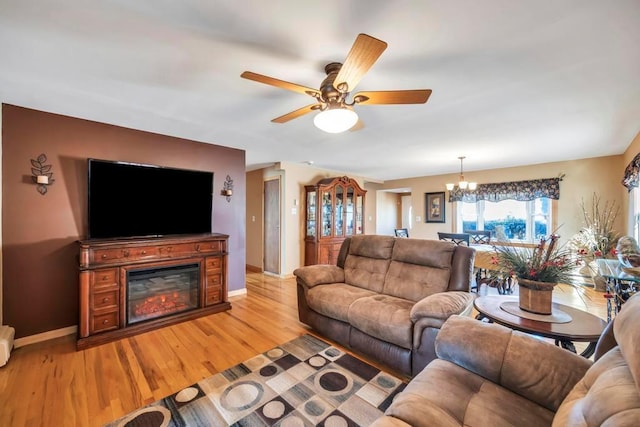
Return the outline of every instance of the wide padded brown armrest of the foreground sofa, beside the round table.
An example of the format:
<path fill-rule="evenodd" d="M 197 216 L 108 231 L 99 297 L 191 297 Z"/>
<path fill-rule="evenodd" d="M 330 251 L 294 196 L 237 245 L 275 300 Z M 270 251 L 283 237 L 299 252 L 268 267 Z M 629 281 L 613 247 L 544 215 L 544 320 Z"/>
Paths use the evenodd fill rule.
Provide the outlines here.
<path fill-rule="evenodd" d="M 442 325 L 436 354 L 554 412 L 592 364 L 550 342 L 463 316 Z"/>

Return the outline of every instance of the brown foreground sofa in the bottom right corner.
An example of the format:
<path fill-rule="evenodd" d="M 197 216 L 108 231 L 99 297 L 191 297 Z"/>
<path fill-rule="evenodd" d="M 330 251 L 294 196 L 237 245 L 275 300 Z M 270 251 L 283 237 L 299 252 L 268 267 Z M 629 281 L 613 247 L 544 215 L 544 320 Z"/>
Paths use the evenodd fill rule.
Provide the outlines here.
<path fill-rule="evenodd" d="M 605 329 L 595 363 L 459 316 L 436 352 L 373 426 L 640 426 L 640 294 Z"/>

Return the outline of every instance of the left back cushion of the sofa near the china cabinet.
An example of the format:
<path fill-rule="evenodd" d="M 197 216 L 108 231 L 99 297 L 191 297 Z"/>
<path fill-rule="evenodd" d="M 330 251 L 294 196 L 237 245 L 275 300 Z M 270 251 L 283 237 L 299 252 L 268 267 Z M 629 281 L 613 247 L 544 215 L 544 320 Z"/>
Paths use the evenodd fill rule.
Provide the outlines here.
<path fill-rule="evenodd" d="M 344 262 L 345 283 L 382 292 L 396 238 L 362 235 L 347 240 L 349 252 Z"/>

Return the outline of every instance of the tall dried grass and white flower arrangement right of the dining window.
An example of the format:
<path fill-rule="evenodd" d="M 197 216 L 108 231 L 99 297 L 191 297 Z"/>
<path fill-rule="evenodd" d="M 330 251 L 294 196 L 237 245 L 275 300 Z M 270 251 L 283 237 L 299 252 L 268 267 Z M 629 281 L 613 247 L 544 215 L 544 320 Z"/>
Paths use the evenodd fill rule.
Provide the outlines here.
<path fill-rule="evenodd" d="M 600 197 L 595 193 L 590 210 L 585 207 L 584 200 L 580 207 L 584 226 L 569 240 L 569 247 L 586 262 L 596 258 L 615 257 L 620 235 L 613 229 L 613 223 L 620 213 L 620 207 L 615 201 L 605 201 L 601 205 Z"/>

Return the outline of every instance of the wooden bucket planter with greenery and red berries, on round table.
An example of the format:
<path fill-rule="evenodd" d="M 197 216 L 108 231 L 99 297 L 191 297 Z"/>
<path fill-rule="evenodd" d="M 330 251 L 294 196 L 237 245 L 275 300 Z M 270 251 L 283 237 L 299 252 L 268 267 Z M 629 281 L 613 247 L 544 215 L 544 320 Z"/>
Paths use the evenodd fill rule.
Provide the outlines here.
<path fill-rule="evenodd" d="M 522 310 L 551 314 L 553 288 L 558 283 L 571 283 L 575 260 L 570 249 L 557 245 L 559 237 L 554 233 L 542 238 L 535 248 L 494 246 L 497 253 L 494 263 L 503 274 L 518 281 Z"/>

